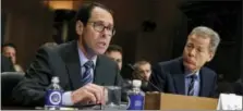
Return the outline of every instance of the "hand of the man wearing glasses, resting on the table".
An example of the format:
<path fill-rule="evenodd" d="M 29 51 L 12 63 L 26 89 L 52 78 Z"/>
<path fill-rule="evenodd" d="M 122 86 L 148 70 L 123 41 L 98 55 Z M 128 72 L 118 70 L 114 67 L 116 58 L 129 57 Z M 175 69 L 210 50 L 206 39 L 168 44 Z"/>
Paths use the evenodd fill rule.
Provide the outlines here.
<path fill-rule="evenodd" d="M 95 84 L 87 84 L 72 91 L 73 103 L 105 103 L 105 88 Z"/>

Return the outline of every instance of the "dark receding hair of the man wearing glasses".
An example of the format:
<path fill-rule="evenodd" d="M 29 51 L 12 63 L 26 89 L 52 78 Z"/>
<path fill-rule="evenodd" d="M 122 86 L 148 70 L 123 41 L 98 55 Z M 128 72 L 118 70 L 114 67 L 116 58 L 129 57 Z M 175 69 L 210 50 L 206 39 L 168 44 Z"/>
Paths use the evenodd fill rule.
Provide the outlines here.
<path fill-rule="evenodd" d="M 95 7 L 101 8 L 112 14 L 112 11 L 108 9 L 106 5 L 100 4 L 98 2 L 92 2 L 92 3 L 89 2 L 82 5 L 82 8 L 77 11 L 75 21 L 81 21 L 84 24 L 84 26 L 86 26 L 90 17 L 92 11 Z"/>

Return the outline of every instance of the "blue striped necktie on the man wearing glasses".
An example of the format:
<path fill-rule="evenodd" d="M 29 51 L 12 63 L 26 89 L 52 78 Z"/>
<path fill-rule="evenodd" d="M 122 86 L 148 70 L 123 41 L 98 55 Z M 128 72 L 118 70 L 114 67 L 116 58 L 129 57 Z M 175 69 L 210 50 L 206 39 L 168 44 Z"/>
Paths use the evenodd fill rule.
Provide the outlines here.
<path fill-rule="evenodd" d="M 94 69 L 93 61 L 87 61 L 84 64 L 84 67 L 85 67 L 85 72 L 82 76 L 82 82 L 84 83 L 84 85 L 86 85 L 88 83 L 92 83 L 92 81 L 93 81 L 93 76 L 92 76 L 92 70 Z"/>

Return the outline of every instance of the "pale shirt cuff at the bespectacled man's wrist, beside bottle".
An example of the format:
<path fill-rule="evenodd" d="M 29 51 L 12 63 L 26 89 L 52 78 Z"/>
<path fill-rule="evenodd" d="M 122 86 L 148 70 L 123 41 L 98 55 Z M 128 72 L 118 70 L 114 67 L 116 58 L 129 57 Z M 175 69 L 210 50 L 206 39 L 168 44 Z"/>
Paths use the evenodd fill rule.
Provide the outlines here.
<path fill-rule="evenodd" d="M 62 104 L 64 106 L 73 106 L 73 101 L 72 101 L 72 91 L 65 91 L 62 95 Z"/>

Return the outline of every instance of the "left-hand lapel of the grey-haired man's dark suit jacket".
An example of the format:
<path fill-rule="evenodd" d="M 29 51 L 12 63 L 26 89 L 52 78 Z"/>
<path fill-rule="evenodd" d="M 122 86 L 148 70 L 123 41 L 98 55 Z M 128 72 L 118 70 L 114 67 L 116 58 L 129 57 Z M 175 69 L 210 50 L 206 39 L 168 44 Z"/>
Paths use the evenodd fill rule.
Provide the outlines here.
<path fill-rule="evenodd" d="M 178 65 L 174 65 L 172 76 L 174 79 L 174 87 L 177 94 L 185 95 L 185 79 L 184 79 L 184 66 L 182 64 L 182 58 L 179 58 Z"/>

